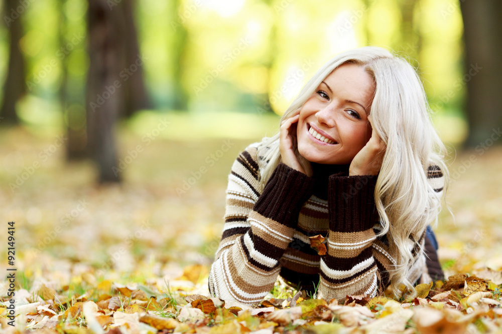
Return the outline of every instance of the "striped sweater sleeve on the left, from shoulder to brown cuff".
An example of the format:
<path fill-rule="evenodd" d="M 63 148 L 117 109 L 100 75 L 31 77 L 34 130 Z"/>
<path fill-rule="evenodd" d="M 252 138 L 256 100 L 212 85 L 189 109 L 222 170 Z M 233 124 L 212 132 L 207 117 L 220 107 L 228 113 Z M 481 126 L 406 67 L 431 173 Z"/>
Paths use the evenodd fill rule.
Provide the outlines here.
<path fill-rule="evenodd" d="M 260 194 L 256 148 L 239 155 L 228 176 L 225 224 L 209 272 L 212 295 L 256 304 L 270 292 L 313 182 L 280 163 Z"/>

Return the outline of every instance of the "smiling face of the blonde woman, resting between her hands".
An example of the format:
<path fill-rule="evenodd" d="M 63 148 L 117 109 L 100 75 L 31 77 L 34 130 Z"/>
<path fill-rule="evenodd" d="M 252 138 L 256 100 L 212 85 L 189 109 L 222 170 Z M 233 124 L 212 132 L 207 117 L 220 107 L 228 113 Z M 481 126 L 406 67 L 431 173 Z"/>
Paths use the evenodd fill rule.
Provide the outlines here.
<path fill-rule="evenodd" d="M 329 74 L 300 110 L 298 151 L 310 162 L 349 164 L 369 138 L 374 94 L 371 76 L 343 64 Z"/>

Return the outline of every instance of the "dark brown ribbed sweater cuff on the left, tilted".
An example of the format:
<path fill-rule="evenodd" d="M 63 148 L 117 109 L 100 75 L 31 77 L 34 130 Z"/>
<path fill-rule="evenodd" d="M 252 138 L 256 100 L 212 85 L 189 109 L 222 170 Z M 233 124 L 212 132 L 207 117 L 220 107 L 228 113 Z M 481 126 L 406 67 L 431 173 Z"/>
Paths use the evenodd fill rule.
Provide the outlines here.
<path fill-rule="evenodd" d="M 253 208 L 261 215 L 296 228 L 303 204 L 312 195 L 314 179 L 279 163 Z"/>

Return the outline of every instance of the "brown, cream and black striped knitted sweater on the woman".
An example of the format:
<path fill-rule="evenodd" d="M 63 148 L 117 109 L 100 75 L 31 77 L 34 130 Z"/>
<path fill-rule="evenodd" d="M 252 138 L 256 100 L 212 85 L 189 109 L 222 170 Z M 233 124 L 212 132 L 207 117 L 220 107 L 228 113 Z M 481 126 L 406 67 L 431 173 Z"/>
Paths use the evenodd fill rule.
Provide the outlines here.
<path fill-rule="evenodd" d="M 280 163 L 260 191 L 259 145 L 248 146 L 228 176 L 225 224 L 209 273 L 211 294 L 258 304 L 278 275 L 307 291 L 318 286 L 318 296 L 327 300 L 381 293 L 396 261 L 386 237 L 376 237 L 376 176 L 348 176 L 348 165 L 313 164 L 311 178 Z M 429 168 L 428 180 L 442 191 L 439 168 Z M 322 256 L 310 247 L 309 236 L 317 234 L 327 235 Z M 422 245 L 424 235 L 418 240 Z M 423 249 L 413 242 L 410 247 L 409 280 L 430 280 Z"/>

